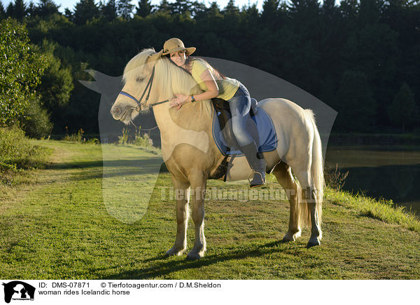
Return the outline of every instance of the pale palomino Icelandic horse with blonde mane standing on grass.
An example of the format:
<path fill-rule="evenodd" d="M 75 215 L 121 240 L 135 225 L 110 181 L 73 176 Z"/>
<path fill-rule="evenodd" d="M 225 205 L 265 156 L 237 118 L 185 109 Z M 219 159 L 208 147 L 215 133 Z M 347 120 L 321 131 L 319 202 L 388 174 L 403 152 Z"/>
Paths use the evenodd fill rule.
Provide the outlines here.
<path fill-rule="evenodd" d="M 176 198 L 176 240 L 167 255 L 181 255 L 187 248 L 191 197 L 195 244 L 187 258 L 199 259 L 206 250 L 202 194 L 207 179 L 215 177 L 224 158 L 212 137 L 213 106 L 210 101 L 200 101 L 184 104 L 179 110 L 169 107 L 163 100 L 169 100 L 176 93 L 197 94 L 200 88 L 190 74 L 153 49 L 143 50 L 128 62 L 123 80 L 123 91 L 111 108 L 113 118 L 130 123 L 139 111 L 153 107 L 160 129 L 163 160 L 172 174 L 174 189 L 181 190 L 178 194 L 186 194 Z M 267 172 L 274 172 L 278 182 L 288 190 L 290 222 L 283 241 L 295 240 L 303 226 L 311 226 L 307 246 L 320 245 L 323 159 L 314 115 L 311 110 L 281 98 L 262 100 L 258 107 L 271 116 L 278 137 L 276 150 L 263 154 Z M 299 183 L 293 178 L 292 169 Z M 247 179 L 250 173 L 245 157 L 235 158 L 228 180 Z"/>

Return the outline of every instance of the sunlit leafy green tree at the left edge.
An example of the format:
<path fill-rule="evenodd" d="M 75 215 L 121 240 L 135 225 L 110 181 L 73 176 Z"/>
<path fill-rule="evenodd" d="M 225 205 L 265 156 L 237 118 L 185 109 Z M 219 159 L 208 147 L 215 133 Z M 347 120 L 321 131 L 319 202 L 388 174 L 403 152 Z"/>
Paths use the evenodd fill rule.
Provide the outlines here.
<path fill-rule="evenodd" d="M 10 18 L 0 22 L 0 126 L 18 123 L 48 62 L 34 52 L 27 29 Z"/>

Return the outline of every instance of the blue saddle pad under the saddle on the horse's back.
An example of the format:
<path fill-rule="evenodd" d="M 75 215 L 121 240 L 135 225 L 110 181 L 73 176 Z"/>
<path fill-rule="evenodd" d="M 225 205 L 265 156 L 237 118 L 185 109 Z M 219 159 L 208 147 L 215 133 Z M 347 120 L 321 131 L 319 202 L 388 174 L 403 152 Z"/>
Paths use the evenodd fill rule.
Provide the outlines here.
<path fill-rule="evenodd" d="M 255 125 L 253 128 L 250 128 L 250 125 L 256 125 L 256 129 L 258 130 L 258 136 L 253 133 L 251 130 L 255 130 Z M 252 135 L 255 143 L 257 143 L 258 151 L 260 152 L 267 152 L 267 151 L 274 151 L 277 147 L 277 137 L 276 137 L 276 130 L 274 129 L 274 124 L 272 119 L 269 117 L 267 112 L 265 112 L 262 108 L 258 107 L 257 114 L 255 116 L 248 117 L 248 121 L 246 123 L 246 130 L 250 132 Z M 230 147 L 228 151 L 228 144 L 223 137 L 223 133 L 221 131 L 221 126 L 218 123 L 218 117 L 216 111 L 214 111 L 213 117 L 213 138 L 214 142 L 223 154 L 232 155 L 235 154 L 237 156 L 243 156 L 244 154 L 238 149 L 238 147 Z"/>

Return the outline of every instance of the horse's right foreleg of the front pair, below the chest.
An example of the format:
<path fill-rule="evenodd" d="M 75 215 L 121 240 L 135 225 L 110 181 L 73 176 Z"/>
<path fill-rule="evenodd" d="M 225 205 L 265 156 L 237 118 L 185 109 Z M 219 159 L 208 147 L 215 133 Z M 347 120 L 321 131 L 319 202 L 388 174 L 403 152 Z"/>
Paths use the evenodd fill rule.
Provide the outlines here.
<path fill-rule="evenodd" d="M 204 194 L 207 179 L 202 172 L 189 176 L 191 184 L 191 201 L 193 202 L 193 220 L 195 224 L 195 243 L 188 253 L 187 259 L 200 259 L 206 251 L 206 238 L 204 236 Z"/>

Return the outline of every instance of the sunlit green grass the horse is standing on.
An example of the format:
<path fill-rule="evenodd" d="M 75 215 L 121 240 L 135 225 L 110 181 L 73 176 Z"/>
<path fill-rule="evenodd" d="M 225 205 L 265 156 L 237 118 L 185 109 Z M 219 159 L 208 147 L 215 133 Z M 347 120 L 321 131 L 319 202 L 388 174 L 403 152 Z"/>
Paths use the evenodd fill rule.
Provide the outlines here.
<path fill-rule="evenodd" d="M 108 145 L 103 152 L 100 145 L 57 141 L 36 144 L 55 153 L 47 168 L 34 172 L 33 184 L 10 188 L 3 195 L 0 278 L 420 278 L 419 222 L 389 202 L 332 189 L 325 191 L 321 247 L 305 248 L 308 230 L 295 243 L 279 242 L 288 226 L 284 201 L 210 199 L 204 259 L 165 259 L 176 233 L 175 205 L 158 190 L 172 186 L 169 173 L 159 175 L 148 208 L 115 212 L 122 198 L 144 196 L 142 191 L 156 178 L 144 165 L 159 168 L 158 151 Z M 280 190 L 272 181 L 268 188 Z M 113 185 L 123 195 L 104 196 Z M 208 187 L 247 189 L 213 180 Z M 190 221 L 189 249 L 193 240 Z"/>

